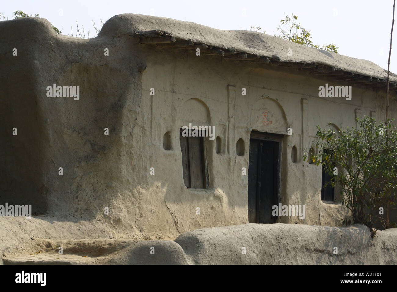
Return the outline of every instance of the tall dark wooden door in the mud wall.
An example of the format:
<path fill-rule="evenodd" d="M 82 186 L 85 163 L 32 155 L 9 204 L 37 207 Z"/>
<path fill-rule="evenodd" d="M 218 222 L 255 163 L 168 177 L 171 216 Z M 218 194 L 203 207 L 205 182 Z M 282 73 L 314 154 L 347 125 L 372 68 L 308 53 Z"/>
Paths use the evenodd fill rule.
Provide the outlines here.
<path fill-rule="evenodd" d="M 248 222 L 274 223 L 278 205 L 279 141 L 250 139 L 248 166 Z"/>

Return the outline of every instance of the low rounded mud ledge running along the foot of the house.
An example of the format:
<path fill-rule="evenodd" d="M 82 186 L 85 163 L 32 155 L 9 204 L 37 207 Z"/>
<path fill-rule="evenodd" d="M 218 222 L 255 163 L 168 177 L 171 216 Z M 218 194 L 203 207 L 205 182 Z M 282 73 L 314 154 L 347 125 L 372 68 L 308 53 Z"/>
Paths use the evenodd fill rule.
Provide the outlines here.
<path fill-rule="evenodd" d="M 33 222 L 27 224 L 18 219 L 7 218 L 0 222 L 1 230 L 6 228 L 8 232 L 5 241 L 0 244 L 4 264 L 397 263 L 396 228 L 378 231 L 371 239 L 369 228 L 360 224 L 340 228 L 251 223 L 193 230 L 173 241 L 104 238 L 68 240 L 65 238 L 93 236 L 89 230 L 92 226 L 75 223 L 69 224 L 66 229 L 60 228 L 60 224 L 55 222 L 51 223 L 54 226 L 48 226 L 50 223 L 46 226 L 37 219 L 31 219 Z M 52 234 L 40 228 L 31 230 L 28 236 L 26 228 L 36 225 L 50 227 Z M 44 239 L 48 235 L 63 239 Z M 59 254 L 59 247 L 63 248 L 62 255 Z M 337 254 L 334 253 L 335 247 Z"/>

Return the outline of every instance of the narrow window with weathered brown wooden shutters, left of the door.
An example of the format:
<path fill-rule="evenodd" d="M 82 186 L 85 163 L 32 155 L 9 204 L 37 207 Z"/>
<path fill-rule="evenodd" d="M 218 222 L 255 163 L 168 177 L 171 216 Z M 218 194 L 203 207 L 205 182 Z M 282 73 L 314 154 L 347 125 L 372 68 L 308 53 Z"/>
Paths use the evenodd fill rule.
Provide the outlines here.
<path fill-rule="evenodd" d="M 183 137 L 181 130 L 179 141 L 185 186 L 188 189 L 208 188 L 204 137 Z"/>

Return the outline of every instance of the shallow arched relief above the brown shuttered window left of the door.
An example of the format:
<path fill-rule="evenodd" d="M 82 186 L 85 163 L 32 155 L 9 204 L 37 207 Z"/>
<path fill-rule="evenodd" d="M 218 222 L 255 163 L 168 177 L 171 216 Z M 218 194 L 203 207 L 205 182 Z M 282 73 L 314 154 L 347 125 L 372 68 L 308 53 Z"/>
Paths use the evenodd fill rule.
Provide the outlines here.
<path fill-rule="evenodd" d="M 180 121 L 188 126 L 208 125 L 210 126 L 210 110 L 205 102 L 197 98 L 188 99 L 183 103 L 179 111 Z M 211 125 L 212 126 L 212 125 Z"/>

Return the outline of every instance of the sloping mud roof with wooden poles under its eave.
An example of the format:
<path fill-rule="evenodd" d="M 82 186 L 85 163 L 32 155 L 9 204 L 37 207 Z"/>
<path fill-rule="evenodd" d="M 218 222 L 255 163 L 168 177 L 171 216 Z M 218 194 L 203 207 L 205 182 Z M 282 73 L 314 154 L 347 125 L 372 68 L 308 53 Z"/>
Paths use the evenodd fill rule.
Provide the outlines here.
<path fill-rule="evenodd" d="M 387 84 L 387 70 L 373 62 L 310 48 L 254 31 L 220 30 L 166 17 L 119 14 L 106 21 L 99 36 L 125 33 L 139 37 L 142 44 L 194 50 L 200 48 L 204 54 L 269 66 L 288 66 L 371 87 L 386 87 Z M 291 54 L 288 54 L 289 49 Z M 389 87 L 397 87 L 397 75 L 393 73 L 390 73 Z"/>

